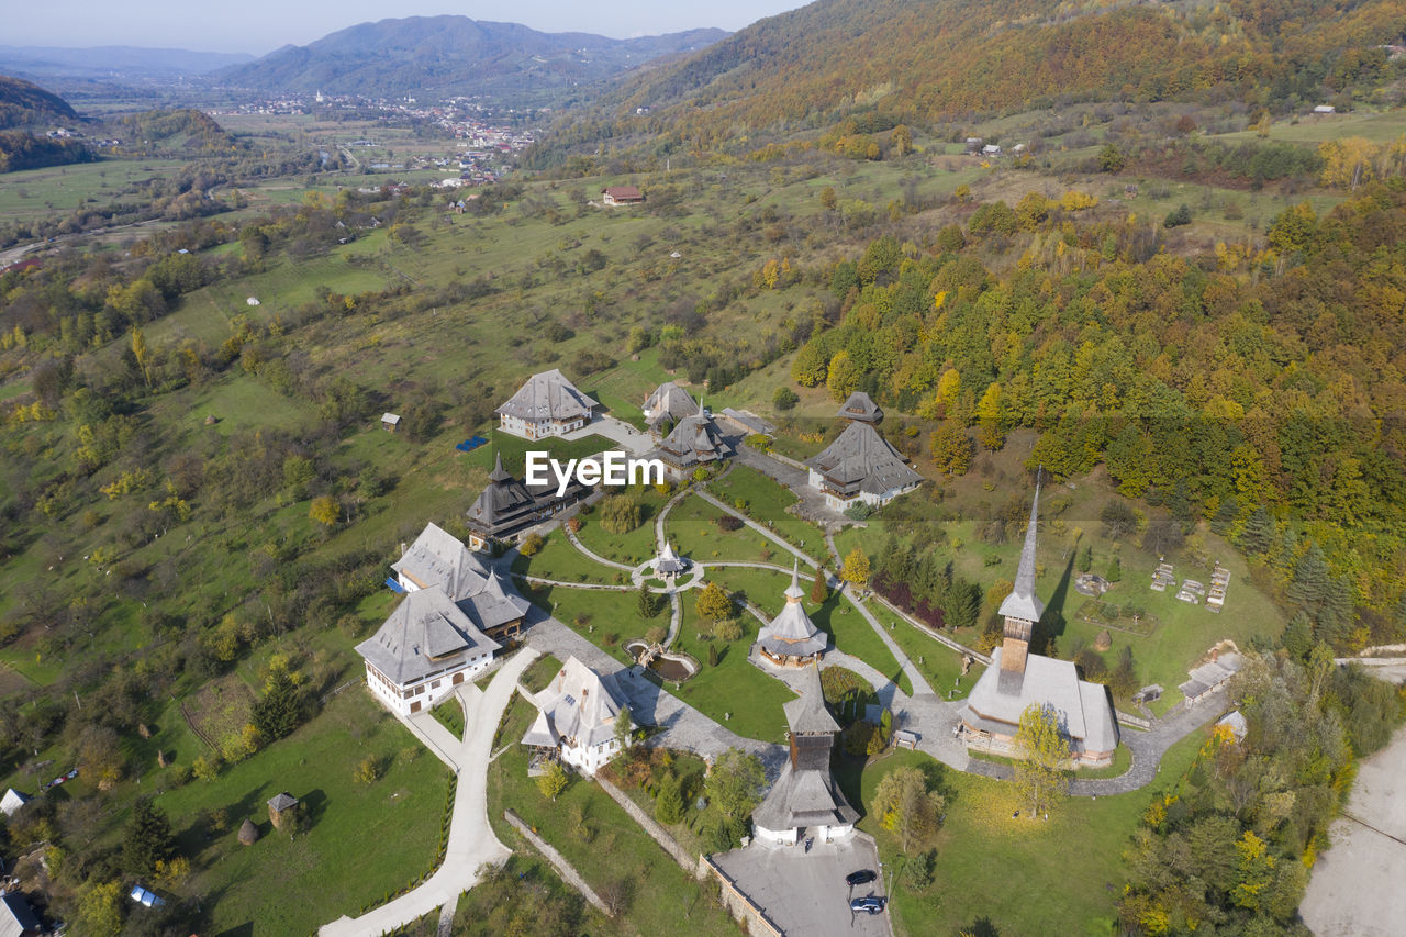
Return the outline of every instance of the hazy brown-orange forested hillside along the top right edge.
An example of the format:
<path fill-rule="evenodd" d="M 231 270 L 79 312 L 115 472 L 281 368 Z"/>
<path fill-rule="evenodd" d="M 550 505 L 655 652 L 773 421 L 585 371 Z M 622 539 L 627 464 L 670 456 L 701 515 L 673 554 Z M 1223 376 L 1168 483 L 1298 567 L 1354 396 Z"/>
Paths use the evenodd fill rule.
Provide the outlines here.
<path fill-rule="evenodd" d="M 1282 113 L 1393 73 L 1403 30 L 1400 0 L 820 0 L 640 76 L 617 132 L 707 148 L 851 111 L 891 127 L 1081 100 Z"/>

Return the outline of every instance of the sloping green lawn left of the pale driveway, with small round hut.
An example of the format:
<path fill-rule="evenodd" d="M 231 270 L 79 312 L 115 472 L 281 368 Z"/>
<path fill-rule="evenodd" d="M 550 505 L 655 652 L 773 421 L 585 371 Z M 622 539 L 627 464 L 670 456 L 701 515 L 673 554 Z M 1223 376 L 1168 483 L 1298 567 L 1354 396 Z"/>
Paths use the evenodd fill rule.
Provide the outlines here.
<path fill-rule="evenodd" d="M 367 757 L 387 764 L 370 786 L 353 779 Z M 305 934 L 381 903 L 430 871 L 447 784 L 443 764 L 367 692 L 352 688 L 288 739 L 212 782 L 167 791 L 157 803 L 191 857 L 195 872 L 186 891 L 202 895 L 211 933 Z M 280 791 L 309 812 L 307 836 L 273 833 L 264 802 Z M 224 812 L 222 830 L 202 815 L 208 810 Z M 235 840 L 246 817 L 263 834 L 250 847 Z"/>

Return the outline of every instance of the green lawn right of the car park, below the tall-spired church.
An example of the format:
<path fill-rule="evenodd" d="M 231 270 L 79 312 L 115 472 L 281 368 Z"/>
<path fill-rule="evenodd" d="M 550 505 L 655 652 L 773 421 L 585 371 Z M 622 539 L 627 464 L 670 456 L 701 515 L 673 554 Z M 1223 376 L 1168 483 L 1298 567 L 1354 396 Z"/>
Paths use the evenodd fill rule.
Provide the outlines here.
<path fill-rule="evenodd" d="M 841 785 L 851 798 L 862 788 L 868 805 L 884 774 L 915 765 L 935 770 L 948 791 L 934 884 L 920 893 L 901 881 L 891 888 L 897 934 L 952 934 L 986 916 L 1000 934 L 1104 936 L 1115 933 L 1114 902 L 1128 875 L 1122 853 L 1129 837 L 1153 792 L 1177 784 L 1202 740 L 1192 733 L 1173 746 L 1152 788 L 1097 801 L 1070 798 L 1049 822 L 1024 812 L 1011 816 L 1021 809 L 1014 785 L 946 770 L 920 751 L 891 751 L 862 768 L 845 763 Z M 894 836 L 875 816 L 865 816 L 859 829 L 879 840 L 886 868 L 901 867 Z M 997 900 L 1012 889 L 1019 900 Z"/>

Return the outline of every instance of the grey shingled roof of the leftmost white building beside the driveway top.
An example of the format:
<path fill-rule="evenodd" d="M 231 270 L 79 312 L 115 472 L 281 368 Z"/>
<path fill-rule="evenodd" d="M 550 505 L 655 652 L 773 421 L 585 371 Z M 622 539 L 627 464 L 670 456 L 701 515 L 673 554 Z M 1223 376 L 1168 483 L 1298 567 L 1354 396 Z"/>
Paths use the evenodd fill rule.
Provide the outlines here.
<path fill-rule="evenodd" d="M 405 687 L 499 647 L 449 595 L 430 588 L 406 594 L 356 650 L 387 680 Z"/>

